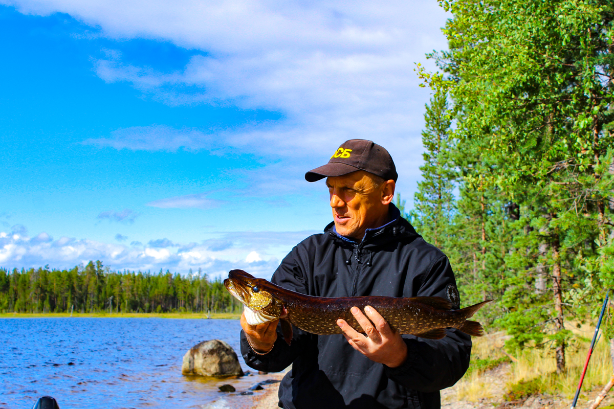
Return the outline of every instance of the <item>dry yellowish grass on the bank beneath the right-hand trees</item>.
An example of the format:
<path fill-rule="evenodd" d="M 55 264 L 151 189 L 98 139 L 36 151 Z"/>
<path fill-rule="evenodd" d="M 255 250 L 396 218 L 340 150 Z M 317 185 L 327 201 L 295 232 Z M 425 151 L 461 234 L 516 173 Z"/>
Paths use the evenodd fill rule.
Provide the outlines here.
<path fill-rule="evenodd" d="M 507 337 L 502 332 L 489 334 L 482 338 L 473 338 L 469 369 L 461 381 L 454 386 L 456 399 L 478 402 L 483 399 L 504 396 L 505 400 L 516 401 L 536 393 L 572 399 L 580 381 L 594 328 L 585 325 L 580 329 L 574 328 L 573 331 L 578 335 L 578 342 L 569 346 L 565 351 L 567 370 L 561 374 L 556 373 L 553 351 L 527 349 L 515 357 L 518 362 L 512 362 L 503 352 L 503 345 Z M 586 341 L 587 338 L 588 341 Z M 488 377 L 485 373 L 502 364 L 509 366 L 507 370 L 497 375 L 502 377 L 499 380 L 499 390 L 497 390 L 492 377 Z M 610 346 L 608 340 L 602 337 L 595 345 L 582 391 L 600 389 L 610 380 L 610 377 L 612 377 Z M 503 386 L 502 391 L 501 386 Z"/>

